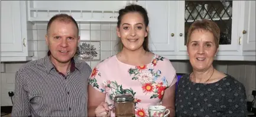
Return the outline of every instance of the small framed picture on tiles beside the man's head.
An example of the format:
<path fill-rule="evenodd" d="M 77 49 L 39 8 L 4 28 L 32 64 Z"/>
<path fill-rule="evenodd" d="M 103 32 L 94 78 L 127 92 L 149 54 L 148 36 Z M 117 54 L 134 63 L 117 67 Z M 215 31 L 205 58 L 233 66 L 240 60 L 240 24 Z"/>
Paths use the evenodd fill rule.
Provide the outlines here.
<path fill-rule="evenodd" d="M 80 41 L 76 56 L 80 60 L 101 60 L 101 41 Z"/>

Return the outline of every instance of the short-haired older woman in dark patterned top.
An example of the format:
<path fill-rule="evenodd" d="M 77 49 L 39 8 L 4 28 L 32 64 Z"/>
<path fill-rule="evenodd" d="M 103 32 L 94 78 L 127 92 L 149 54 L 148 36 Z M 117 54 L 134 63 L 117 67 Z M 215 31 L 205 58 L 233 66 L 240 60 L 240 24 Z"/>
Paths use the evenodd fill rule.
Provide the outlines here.
<path fill-rule="evenodd" d="M 213 21 L 195 21 L 187 35 L 187 52 L 193 72 L 179 81 L 176 116 L 247 116 L 245 87 L 216 70 L 220 30 Z"/>

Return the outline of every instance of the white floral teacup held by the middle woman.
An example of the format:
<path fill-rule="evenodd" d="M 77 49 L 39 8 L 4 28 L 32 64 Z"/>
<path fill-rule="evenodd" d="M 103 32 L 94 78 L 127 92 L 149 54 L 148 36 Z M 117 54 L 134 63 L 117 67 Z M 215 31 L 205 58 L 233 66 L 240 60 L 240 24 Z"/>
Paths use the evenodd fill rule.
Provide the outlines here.
<path fill-rule="evenodd" d="M 150 106 L 148 108 L 148 113 L 150 114 L 150 117 L 165 117 L 170 114 L 170 110 L 166 109 L 166 106 Z"/>

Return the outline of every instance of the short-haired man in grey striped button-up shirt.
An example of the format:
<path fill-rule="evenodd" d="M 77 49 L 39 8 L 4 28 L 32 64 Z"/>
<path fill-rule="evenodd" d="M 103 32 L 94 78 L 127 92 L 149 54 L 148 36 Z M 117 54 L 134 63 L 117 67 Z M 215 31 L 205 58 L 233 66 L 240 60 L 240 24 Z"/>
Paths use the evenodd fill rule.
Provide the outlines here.
<path fill-rule="evenodd" d="M 44 58 L 17 71 L 12 116 L 87 116 L 87 86 L 91 69 L 75 61 L 80 41 L 76 21 L 58 14 L 47 25 Z"/>

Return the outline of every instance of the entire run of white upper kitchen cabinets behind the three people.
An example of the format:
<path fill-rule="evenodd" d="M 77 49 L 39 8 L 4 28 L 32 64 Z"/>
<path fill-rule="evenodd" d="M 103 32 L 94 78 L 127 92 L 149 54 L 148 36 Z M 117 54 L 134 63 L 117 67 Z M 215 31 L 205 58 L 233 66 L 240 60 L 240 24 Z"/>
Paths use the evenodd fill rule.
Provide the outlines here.
<path fill-rule="evenodd" d="M 8 17 L 1 17 L 1 24 L 5 25 L 1 27 L 4 33 L 1 35 L 1 41 L 4 42 L 1 44 L 1 56 L 23 57 L 18 60 L 29 60 L 33 56 L 29 49 L 31 35 L 28 30 L 30 23 L 27 21 L 45 22 L 55 14 L 66 13 L 79 23 L 115 23 L 119 9 L 132 3 L 147 9 L 150 49 L 156 54 L 171 60 L 188 60 L 186 36 L 189 26 L 198 19 L 211 19 L 221 28 L 216 60 L 255 61 L 255 14 L 252 12 L 255 11 L 255 1 L 70 2 L 3 1 L 1 9 L 5 10 L 1 12 Z"/>

